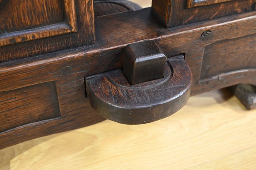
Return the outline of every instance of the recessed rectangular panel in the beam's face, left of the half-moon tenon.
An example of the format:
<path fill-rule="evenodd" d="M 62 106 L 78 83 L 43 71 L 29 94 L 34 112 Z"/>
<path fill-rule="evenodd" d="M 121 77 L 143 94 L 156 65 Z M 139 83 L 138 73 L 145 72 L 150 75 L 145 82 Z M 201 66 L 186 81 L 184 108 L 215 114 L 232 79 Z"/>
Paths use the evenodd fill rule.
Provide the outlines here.
<path fill-rule="evenodd" d="M 0 92 L 0 132 L 58 117 L 54 82 Z"/>

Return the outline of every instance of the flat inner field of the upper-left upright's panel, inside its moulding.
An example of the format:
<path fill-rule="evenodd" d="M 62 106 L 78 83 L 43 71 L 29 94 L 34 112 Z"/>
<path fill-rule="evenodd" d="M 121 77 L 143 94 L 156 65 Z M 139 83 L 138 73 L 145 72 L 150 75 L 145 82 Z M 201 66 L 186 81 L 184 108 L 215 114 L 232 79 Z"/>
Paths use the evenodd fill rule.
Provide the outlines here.
<path fill-rule="evenodd" d="M 61 0 L 3 0 L 0 33 L 64 22 Z"/>

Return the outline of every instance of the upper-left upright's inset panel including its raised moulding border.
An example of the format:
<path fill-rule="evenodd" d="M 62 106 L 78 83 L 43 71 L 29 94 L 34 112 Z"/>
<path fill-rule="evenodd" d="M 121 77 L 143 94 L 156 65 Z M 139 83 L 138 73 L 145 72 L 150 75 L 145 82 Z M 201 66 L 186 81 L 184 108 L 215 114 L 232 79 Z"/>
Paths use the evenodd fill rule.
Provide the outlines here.
<path fill-rule="evenodd" d="M 64 0 L 65 11 L 60 0 L 19 1 L 2 4 L 0 46 L 77 31 L 74 0 Z"/>

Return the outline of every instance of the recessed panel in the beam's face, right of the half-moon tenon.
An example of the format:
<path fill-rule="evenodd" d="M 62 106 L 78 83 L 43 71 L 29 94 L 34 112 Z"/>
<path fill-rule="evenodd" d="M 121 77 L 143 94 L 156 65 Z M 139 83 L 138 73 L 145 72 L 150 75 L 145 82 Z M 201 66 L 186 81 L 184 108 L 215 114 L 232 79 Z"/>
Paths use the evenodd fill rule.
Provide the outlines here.
<path fill-rule="evenodd" d="M 201 79 L 256 68 L 255 40 L 256 34 L 207 45 L 203 56 Z"/>

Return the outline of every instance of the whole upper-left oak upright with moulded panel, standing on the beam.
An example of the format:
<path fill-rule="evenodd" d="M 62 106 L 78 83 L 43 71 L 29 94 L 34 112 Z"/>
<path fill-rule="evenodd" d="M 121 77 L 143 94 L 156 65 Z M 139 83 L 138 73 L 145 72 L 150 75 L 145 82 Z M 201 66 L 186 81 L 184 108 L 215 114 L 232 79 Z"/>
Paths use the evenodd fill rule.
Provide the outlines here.
<path fill-rule="evenodd" d="M 95 41 L 92 0 L 4 0 L 0 16 L 0 62 Z"/>

